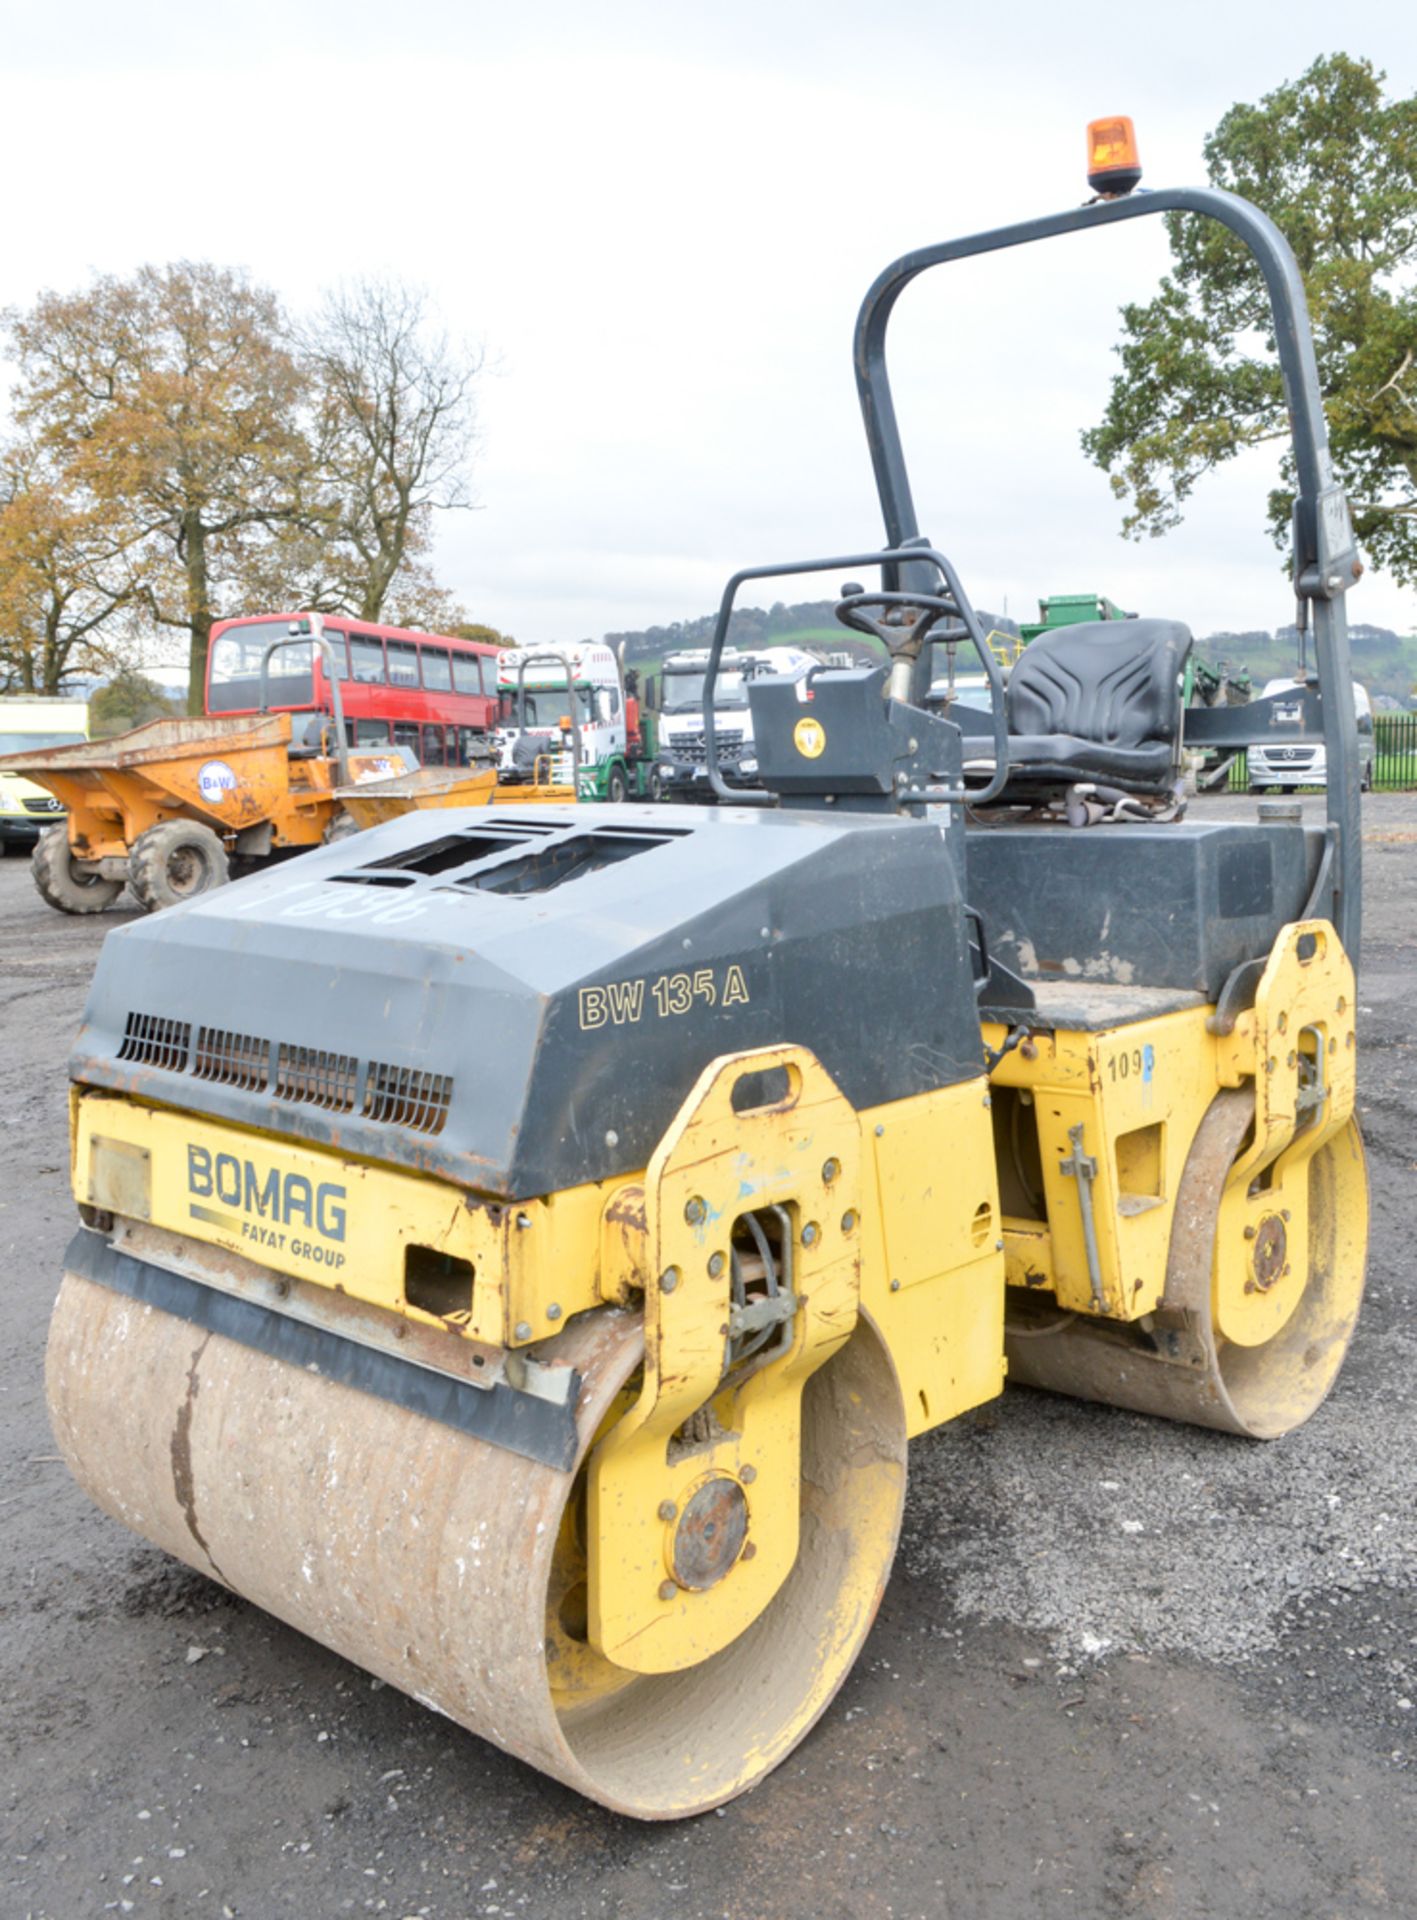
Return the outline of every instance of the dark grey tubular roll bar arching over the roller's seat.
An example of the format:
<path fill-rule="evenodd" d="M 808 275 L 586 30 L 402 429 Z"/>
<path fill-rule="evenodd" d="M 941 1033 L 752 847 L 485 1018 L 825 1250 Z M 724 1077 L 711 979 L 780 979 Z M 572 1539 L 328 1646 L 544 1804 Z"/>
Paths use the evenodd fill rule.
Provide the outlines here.
<path fill-rule="evenodd" d="M 1146 213 L 1204 213 L 1229 227 L 1254 253 L 1269 290 L 1269 311 L 1275 323 L 1279 369 L 1285 380 L 1298 492 L 1294 497 L 1294 591 L 1298 595 L 1300 630 L 1313 618 L 1313 651 L 1319 664 L 1323 701 L 1323 747 L 1329 780 L 1329 839 L 1333 849 L 1334 925 L 1348 958 L 1357 968 L 1361 939 L 1361 801 L 1357 766 L 1357 716 L 1354 710 L 1354 670 L 1348 653 L 1348 616 L 1344 593 L 1357 580 L 1361 561 L 1354 541 L 1344 490 L 1334 480 L 1329 455 L 1329 430 L 1323 419 L 1319 369 L 1313 357 L 1309 311 L 1304 300 L 1304 280 L 1288 242 L 1258 207 L 1238 194 L 1213 186 L 1175 186 L 1160 192 L 1135 192 L 1123 200 L 1102 200 L 1093 205 L 1052 213 L 1046 219 L 1021 221 L 1018 227 L 997 227 L 993 232 L 970 234 L 964 240 L 945 240 L 939 246 L 902 253 L 879 275 L 862 301 L 856 319 L 856 392 L 866 420 L 866 440 L 876 468 L 876 488 L 885 515 L 885 536 L 893 547 L 904 547 L 918 538 L 916 509 L 910 497 L 901 430 L 891 399 L 891 380 L 885 371 L 885 330 L 895 301 L 927 267 L 970 259 L 975 253 L 997 253 L 1002 248 L 1025 246 L 1031 240 L 1050 240 L 1054 234 L 1081 232 L 1089 227 L 1112 227 L 1117 221 Z M 899 557 L 897 557 L 899 559 Z M 901 582 L 922 586 L 927 580 L 916 557 L 901 563 Z"/>

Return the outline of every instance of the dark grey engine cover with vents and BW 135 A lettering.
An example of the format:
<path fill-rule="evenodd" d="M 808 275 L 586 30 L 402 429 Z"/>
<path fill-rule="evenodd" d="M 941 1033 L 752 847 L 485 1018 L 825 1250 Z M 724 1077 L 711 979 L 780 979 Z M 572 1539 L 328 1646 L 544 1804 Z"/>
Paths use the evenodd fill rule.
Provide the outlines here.
<path fill-rule="evenodd" d="M 968 983 L 924 820 L 417 812 L 115 929 L 71 1073 L 515 1200 L 643 1167 L 726 1052 L 970 1079 Z"/>

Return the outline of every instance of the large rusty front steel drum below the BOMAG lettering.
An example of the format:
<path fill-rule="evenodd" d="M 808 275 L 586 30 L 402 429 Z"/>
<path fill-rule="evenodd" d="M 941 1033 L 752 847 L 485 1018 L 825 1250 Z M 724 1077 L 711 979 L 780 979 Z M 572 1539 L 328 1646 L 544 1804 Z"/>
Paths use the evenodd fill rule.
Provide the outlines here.
<path fill-rule="evenodd" d="M 586 1459 L 632 1404 L 637 1313 L 574 1321 L 563 1473 L 65 1273 L 50 1419 L 113 1519 L 589 1799 L 703 1812 L 824 1713 L 876 1617 L 904 1501 L 904 1413 L 866 1321 L 803 1394 L 801 1548 L 722 1651 L 632 1674 L 586 1640 Z"/>

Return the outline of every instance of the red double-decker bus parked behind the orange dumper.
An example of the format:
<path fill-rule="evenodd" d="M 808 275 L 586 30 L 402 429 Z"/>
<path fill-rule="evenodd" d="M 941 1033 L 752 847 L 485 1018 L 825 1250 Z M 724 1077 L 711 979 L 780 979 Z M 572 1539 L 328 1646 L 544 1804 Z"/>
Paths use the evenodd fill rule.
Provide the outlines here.
<path fill-rule="evenodd" d="M 317 612 L 219 620 L 207 653 L 207 712 L 259 712 L 265 649 L 303 639 L 271 655 L 267 701 L 271 712 L 311 714 L 303 730 L 296 722 L 294 739 L 315 741 L 323 716 L 334 710 L 317 636 L 334 655 L 351 747 L 407 747 L 422 766 L 467 766 L 474 739 L 495 728 L 495 647 Z"/>

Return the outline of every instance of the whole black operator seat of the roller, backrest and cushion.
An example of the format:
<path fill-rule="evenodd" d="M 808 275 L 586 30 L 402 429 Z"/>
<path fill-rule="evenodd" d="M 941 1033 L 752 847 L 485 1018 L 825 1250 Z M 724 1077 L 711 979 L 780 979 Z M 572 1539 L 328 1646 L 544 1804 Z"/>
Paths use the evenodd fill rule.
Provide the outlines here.
<path fill-rule="evenodd" d="M 1190 628 L 1179 620 L 1087 620 L 1039 634 L 1008 676 L 1000 804 L 1079 781 L 1169 793 L 1189 653 Z"/>

